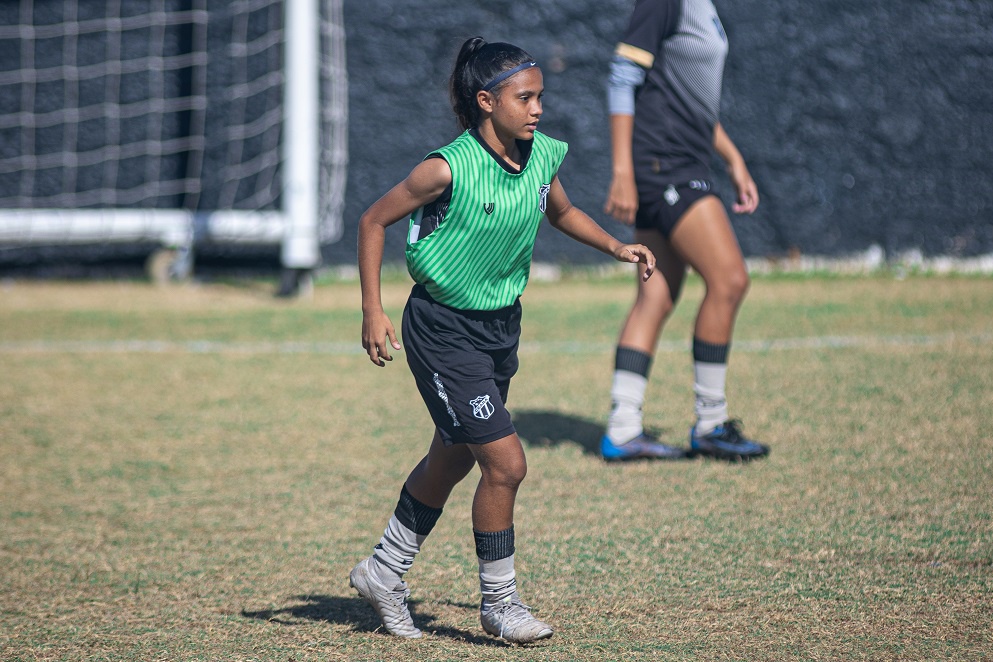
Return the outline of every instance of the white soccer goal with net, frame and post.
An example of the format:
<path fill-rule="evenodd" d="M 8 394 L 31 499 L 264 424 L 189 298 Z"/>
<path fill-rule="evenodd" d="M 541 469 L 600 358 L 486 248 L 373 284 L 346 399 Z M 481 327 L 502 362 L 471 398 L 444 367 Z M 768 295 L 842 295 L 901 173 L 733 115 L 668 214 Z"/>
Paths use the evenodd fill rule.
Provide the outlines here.
<path fill-rule="evenodd" d="M 0 244 L 341 234 L 343 0 L 0 3 Z"/>

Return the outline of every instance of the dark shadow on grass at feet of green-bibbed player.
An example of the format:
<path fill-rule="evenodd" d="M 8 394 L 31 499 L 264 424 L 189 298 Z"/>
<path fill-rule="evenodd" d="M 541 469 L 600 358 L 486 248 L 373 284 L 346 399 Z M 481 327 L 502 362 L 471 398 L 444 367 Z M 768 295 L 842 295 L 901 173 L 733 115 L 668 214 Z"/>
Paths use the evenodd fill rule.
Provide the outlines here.
<path fill-rule="evenodd" d="M 383 630 L 383 625 L 376 617 L 369 603 L 358 597 L 341 597 L 337 595 L 297 595 L 291 598 L 296 604 L 278 609 L 262 609 L 259 611 L 248 611 L 242 609 L 241 615 L 245 618 L 254 618 L 268 623 L 278 623 L 279 625 L 296 625 L 295 621 L 323 621 L 325 623 L 337 623 L 339 625 L 350 625 L 356 632 L 383 632 L 384 636 L 389 636 Z M 436 637 L 448 637 L 458 641 L 480 646 L 495 646 L 504 648 L 510 644 L 480 636 L 460 630 L 447 625 L 440 625 L 434 616 L 419 614 L 417 611 L 417 600 L 407 602 L 410 608 L 410 617 L 414 620 L 414 625 L 424 632 L 431 633 Z M 455 605 L 465 607 L 475 611 L 475 605 Z"/>

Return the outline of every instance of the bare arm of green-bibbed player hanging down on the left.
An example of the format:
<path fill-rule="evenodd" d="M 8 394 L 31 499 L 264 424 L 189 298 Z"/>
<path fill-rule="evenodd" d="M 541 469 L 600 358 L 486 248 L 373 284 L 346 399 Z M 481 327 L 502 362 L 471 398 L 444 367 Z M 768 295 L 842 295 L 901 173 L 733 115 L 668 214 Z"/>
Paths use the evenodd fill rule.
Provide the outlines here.
<path fill-rule="evenodd" d="M 362 347 L 378 366 L 392 361 L 389 346 L 400 349 L 396 329 L 383 310 L 380 271 L 386 228 L 436 200 L 452 181 L 444 159 L 421 161 L 407 178 L 373 203 L 359 219 L 358 262 L 362 288 Z"/>

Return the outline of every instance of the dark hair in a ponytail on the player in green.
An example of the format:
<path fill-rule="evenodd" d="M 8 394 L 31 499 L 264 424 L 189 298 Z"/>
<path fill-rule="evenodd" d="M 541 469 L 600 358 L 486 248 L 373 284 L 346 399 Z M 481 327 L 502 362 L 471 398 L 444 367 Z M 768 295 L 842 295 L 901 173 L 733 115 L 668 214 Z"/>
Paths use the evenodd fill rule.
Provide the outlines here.
<path fill-rule="evenodd" d="M 521 48 L 502 42 L 486 43 L 482 37 L 466 39 L 455 59 L 455 69 L 448 83 L 452 110 L 462 129 L 479 124 L 479 104 L 476 93 L 504 71 L 532 61 Z M 499 90 L 503 81 L 492 88 Z"/>

